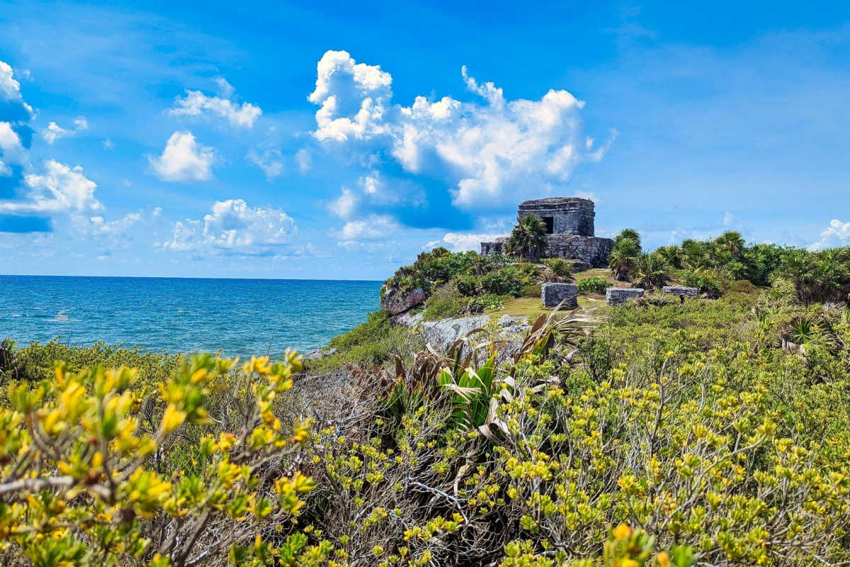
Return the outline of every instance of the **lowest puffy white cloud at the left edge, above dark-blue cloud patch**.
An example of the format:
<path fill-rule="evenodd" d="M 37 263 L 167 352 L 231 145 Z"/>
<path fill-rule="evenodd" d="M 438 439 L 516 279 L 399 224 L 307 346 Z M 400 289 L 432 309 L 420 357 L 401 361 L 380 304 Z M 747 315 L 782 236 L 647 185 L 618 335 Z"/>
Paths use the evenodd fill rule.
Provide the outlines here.
<path fill-rule="evenodd" d="M 97 184 L 82 174 L 82 167 L 68 167 L 48 160 L 42 175 L 26 175 L 26 198 L 0 202 L 0 213 L 83 213 L 103 208 L 94 198 Z"/>

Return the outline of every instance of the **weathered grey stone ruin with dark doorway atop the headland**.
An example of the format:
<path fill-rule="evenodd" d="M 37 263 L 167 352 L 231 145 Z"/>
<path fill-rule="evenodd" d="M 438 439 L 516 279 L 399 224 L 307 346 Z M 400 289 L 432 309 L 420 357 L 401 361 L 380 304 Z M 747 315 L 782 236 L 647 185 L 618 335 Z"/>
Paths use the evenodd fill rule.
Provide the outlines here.
<path fill-rule="evenodd" d="M 580 197 L 548 197 L 519 204 L 517 221 L 535 214 L 547 229 L 547 247 L 543 258 L 566 258 L 579 267 L 605 268 L 614 247 L 610 238 L 593 235 L 593 201 Z M 484 255 L 504 253 L 507 236 L 481 242 Z M 581 266 L 581 264 L 586 264 Z"/>

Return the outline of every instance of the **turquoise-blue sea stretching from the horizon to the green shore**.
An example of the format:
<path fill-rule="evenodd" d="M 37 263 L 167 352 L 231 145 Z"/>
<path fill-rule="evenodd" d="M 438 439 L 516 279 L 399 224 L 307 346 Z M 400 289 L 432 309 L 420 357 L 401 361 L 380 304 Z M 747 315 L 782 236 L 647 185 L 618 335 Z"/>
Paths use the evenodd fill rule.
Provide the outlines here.
<path fill-rule="evenodd" d="M 0 275 L 0 339 L 169 352 L 324 346 L 378 307 L 379 281 Z"/>

